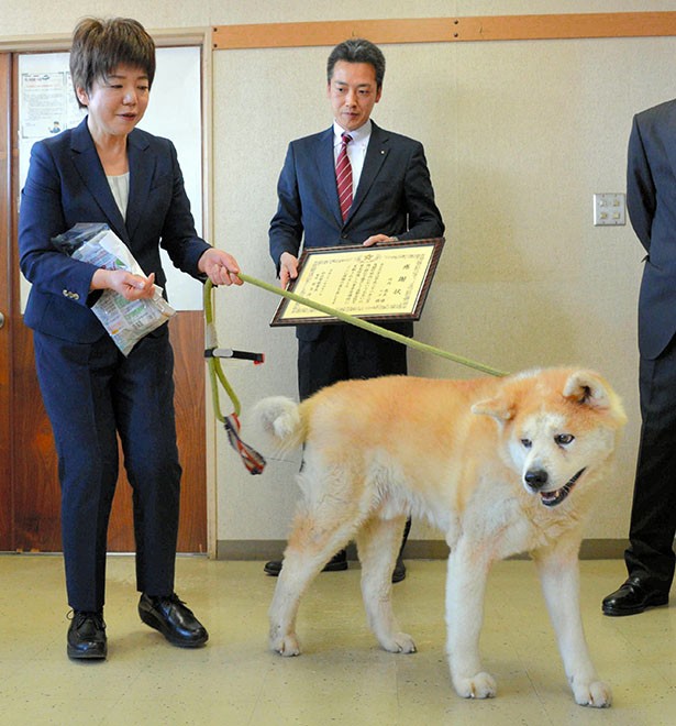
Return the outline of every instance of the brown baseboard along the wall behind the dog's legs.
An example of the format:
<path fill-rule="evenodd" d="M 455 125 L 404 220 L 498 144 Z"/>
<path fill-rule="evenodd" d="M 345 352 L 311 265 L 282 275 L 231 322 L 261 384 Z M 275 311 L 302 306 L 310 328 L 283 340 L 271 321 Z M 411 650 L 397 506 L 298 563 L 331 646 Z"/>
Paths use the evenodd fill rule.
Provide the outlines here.
<path fill-rule="evenodd" d="M 282 539 L 221 539 L 217 542 L 217 560 L 280 560 L 286 540 Z M 619 560 L 624 557 L 629 541 L 624 539 L 585 539 L 580 560 Z M 405 557 L 409 560 L 445 560 L 448 547 L 441 539 L 409 540 Z M 522 554 L 516 559 L 527 559 Z M 347 559 L 356 560 L 354 544 L 347 547 Z"/>

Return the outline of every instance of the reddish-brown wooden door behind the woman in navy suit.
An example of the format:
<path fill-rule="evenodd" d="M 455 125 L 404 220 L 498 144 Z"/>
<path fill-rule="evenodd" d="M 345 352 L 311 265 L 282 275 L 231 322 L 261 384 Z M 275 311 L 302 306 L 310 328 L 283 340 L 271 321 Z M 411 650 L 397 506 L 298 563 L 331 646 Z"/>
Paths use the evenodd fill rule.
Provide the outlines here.
<path fill-rule="evenodd" d="M 12 92 L 16 70 L 9 56 L 0 55 L 0 94 L 4 95 L 0 108 L 12 109 L 11 120 L 9 111 L 0 120 L 0 262 L 5 263 L 0 274 L 7 276 L 7 285 L 2 285 L 0 293 L 0 310 L 9 309 L 11 315 L 9 323 L 0 329 L 0 550 L 54 552 L 62 549 L 57 461 L 37 386 L 32 334 L 20 312 L 18 216 L 13 204 L 19 198 L 19 180 L 18 164 L 12 163 L 18 156 L 14 141 L 18 134 L 12 132 L 19 128 L 16 94 Z M 169 328 L 176 358 L 176 424 L 184 466 L 178 551 L 206 552 L 202 314 L 180 311 Z M 110 551 L 135 549 L 131 512 L 130 486 L 122 471 L 109 528 Z"/>

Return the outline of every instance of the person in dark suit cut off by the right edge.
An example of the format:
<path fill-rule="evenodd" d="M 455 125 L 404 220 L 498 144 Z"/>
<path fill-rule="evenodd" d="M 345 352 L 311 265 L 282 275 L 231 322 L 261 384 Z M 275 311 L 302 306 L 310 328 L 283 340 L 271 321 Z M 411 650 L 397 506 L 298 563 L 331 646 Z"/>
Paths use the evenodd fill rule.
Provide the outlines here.
<path fill-rule="evenodd" d="M 641 443 L 624 553 L 629 578 L 606 615 L 666 605 L 676 532 L 676 101 L 634 117 L 627 204 L 645 248 L 639 297 Z"/>

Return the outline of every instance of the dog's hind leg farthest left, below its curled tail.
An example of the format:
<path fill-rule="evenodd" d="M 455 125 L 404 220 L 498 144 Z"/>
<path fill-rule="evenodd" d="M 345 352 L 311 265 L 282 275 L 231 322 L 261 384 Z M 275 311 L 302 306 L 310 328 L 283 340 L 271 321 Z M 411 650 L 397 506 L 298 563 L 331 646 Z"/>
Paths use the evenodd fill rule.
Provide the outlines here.
<path fill-rule="evenodd" d="M 357 514 L 350 509 L 345 504 L 332 504 L 311 514 L 300 512 L 296 517 L 269 608 L 270 648 L 281 656 L 300 654 L 296 635 L 300 598 L 324 564 L 354 535 Z"/>

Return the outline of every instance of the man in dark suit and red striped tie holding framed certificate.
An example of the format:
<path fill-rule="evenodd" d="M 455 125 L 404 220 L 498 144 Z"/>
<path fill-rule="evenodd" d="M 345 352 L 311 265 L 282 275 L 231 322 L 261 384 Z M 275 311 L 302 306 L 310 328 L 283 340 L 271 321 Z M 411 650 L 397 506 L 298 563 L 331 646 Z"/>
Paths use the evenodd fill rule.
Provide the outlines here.
<path fill-rule="evenodd" d="M 306 249 L 369 246 L 444 232 L 422 144 L 370 120 L 383 92 L 380 50 L 362 38 L 345 41 L 332 51 L 326 72 L 334 123 L 289 144 L 277 186 L 279 205 L 270 223 L 269 245 L 282 287 L 298 275 L 301 243 Z M 345 154 L 348 163 L 342 158 Z M 346 186 L 345 166 L 351 179 Z M 413 334 L 411 322 L 386 327 Z M 337 381 L 407 373 L 405 345 L 361 328 L 299 326 L 296 336 L 301 399 Z M 410 521 L 405 541 L 409 527 Z M 346 568 L 342 550 L 325 569 Z M 271 575 L 280 569 L 278 561 L 265 565 Z M 405 576 L 400 552 L 392 580 Z"/>

